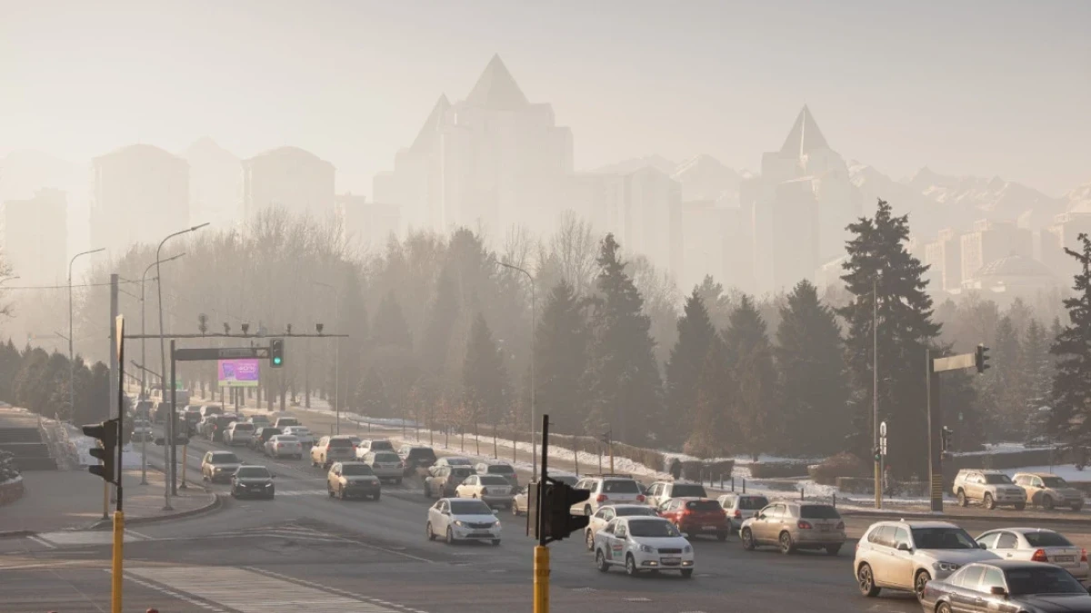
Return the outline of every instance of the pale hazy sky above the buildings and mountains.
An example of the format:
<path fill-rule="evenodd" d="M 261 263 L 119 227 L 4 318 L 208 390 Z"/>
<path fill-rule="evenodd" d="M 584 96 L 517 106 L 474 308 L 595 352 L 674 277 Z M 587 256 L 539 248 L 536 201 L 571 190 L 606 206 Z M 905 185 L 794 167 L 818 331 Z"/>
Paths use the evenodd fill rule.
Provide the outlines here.
<path fill-rule="evenodd" d="M 371 192 L 499 52 L 577 168 L 757 169 L 811 106 L 831 146 L 1060 194 L 1091 181 L 1091 2 L 0 0 L 0 155 L 208 135 L 293 144 Z"/>

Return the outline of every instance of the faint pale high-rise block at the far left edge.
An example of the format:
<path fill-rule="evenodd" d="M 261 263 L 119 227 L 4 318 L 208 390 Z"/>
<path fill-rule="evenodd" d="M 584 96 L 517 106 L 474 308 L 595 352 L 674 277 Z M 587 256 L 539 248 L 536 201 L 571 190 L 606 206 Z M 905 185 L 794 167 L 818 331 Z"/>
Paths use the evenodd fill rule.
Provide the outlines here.
<path fill-rule="evenodd" d="M 3 205 L 4 263 L 27 285 L 55 285 L 68 275 L 68 203 L 60 190 Z"/>

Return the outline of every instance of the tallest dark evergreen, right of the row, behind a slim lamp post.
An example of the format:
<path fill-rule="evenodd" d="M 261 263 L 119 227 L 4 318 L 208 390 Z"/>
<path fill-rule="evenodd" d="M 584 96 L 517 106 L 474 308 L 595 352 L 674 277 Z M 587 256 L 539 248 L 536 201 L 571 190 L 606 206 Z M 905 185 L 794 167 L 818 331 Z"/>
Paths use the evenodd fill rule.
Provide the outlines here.
<path fill-rule="evenodd" d="M 879 421 L 888 424 L 888 457 L 895 474 L 922 476 L 927 472 L 928 442 L 925 350 L 940 329 L 932 321 L 932 298 L 922 278 L 927 266 L 906 250 L 908 216 L 894 216 L 882 200 L 874 217 L 860 218 L 849 230 L 853 237 L 841 279 L 852 298 L 838 314 L 848 322 L 846 362 L 855 406 L 851 446 L 861 457 L 871 456 L 876 429 L 872 364 L 877 296 Z"/>

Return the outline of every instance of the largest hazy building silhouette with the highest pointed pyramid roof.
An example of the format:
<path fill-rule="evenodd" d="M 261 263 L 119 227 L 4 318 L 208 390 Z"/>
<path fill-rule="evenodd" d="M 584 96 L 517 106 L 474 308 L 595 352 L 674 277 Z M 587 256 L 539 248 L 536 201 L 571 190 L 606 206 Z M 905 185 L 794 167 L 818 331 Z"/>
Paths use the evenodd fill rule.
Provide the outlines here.
<path fill-rule="evenodd" d="M 493 56 L 466 99 L 440 97 L 373 193 L 400 205 L 410 227 L 483 226 L 499 236 L 521 224 L 544 235 L 565 208 L 572 148 L 552 106 L 528 101 Z"/>

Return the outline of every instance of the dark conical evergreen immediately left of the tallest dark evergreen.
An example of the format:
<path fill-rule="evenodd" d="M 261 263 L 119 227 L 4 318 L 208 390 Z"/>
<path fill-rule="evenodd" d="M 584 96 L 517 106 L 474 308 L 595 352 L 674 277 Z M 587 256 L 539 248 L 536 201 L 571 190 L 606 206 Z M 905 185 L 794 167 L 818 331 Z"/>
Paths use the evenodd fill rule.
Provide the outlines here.
<path fill-rule="evenodd" d="M 776 356 L 786 446 L 816 457 L 841 450 L 851 425 L 841 330 L 810 281 L 800 281 L 780 309 Z"/>

